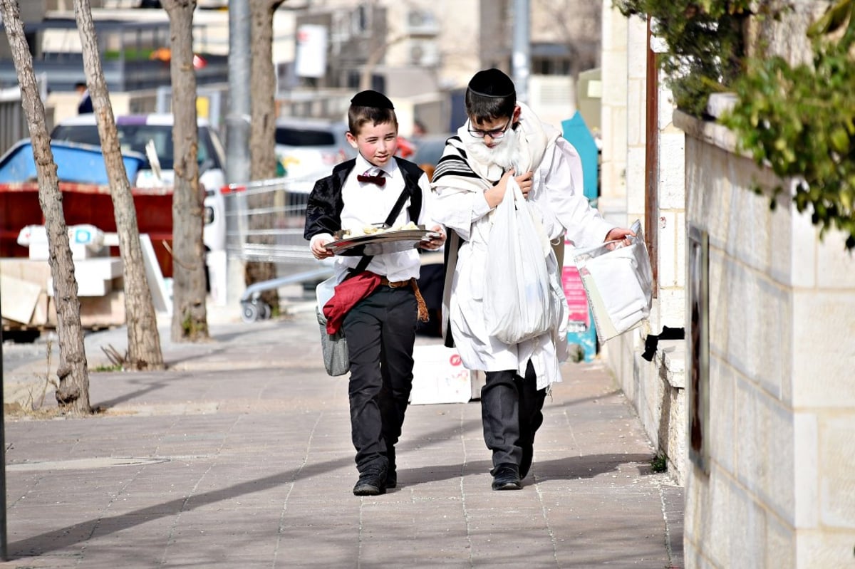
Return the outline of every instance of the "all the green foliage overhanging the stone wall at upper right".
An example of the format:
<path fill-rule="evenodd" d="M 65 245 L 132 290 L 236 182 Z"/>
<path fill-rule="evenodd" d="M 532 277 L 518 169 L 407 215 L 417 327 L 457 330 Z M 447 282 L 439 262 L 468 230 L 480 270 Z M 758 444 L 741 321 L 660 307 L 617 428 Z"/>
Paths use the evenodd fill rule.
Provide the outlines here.
<path fill-rule="evenodd" d="M 677 107 L 701 117 L 712 92 L 734 91 L 738 103 L 722 124 L 740 150 L 782 179 L 799 180 L 799 211 L 811 212 L 821 237 L 835 227 L 855 248 L 855 0 L 840 0 L 811 26 L 813 62 L 796 67 L 745 56 L 746 19 L 777 18 L 785 0 L 614 2 L 624 15 L 657 21 L 653 32 L 669 47 L 660 65 Z"/>

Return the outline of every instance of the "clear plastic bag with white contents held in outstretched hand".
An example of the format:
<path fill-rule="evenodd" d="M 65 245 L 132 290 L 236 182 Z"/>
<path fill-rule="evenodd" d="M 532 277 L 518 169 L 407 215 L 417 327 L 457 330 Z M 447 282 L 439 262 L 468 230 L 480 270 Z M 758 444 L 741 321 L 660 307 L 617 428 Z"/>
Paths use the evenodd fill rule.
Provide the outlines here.
<path fill-rule="evenodd" d="M 600 342 L 640 326 L 650 316 L 653 276 L 641 222 L 627 246 L 603 243 L 574 252 Z"/>

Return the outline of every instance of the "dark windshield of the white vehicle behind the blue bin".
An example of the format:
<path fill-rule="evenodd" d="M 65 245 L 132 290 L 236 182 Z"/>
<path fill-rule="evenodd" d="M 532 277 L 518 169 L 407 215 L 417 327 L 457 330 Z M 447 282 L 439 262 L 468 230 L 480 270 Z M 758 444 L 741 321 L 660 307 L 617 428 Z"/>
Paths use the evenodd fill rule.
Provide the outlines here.
<path fill-rule="evenodd" d="M 155 143 L 157 160 L 164 170 L 174 168 L 174 152 L 172 145 L 172 126 L 168 125 L 116 125 L 119 134 L 119 145 L 123 152 L 132 150 L 145 154 L 145 144 L 149 140 Z M 67 140 L 80 144 L 101 145 L 98 138 L 98 127 L 95 125 L 60 125 L 51 134 L 55 140 Z M 210 141 L 203 129 L 199 129 L 199 150 L 197 160 L 202 164 L 206 160 L 217 161 L 209 151 Z"/>

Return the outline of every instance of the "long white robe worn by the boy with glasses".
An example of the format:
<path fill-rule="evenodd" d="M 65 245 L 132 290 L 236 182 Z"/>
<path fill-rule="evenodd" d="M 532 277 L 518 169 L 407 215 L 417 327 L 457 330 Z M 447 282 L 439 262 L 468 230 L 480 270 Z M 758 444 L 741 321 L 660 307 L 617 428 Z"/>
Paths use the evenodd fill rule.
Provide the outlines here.
<path fill-rule="evenodd" d="M 530 113 L 527 111 L 523 107 L 524 132 L 537 126 L 543 128 L 534 114 L 525 120 Z M 464 131 L 462 136 L 469 134 Z M 534 168 L 528 202 L 534 204 L 534 211 L 540 213 L 547 235 L 554 241 L 566 233 L 578 246 L 602 243 L 614 226 L 588 205 L 582 193 L 579 154 L 569 142 L 555 137 L 549 138 L 542 152 L 542 160 Z M 494 173 L 491 174 L 491 178 L 495 178 Z M 537 374 L 538 389 L 561 381 L 559 364 L 566 359 L 566 322 L 540 337 L 510 345 L 499 342 L 486 332 L 484 287 L 506 283 L 484 282 L 491 208 L 483 191 L 443 185 L 442 179 L 434 187 L 438 199 L 434 202 L 433 217 L 457 232 L 463 240 L 452 275 L 448 314 L 451 335 L 463 365 L 486 372 L 516 369 L 524 375 L 531 360 Z M 560 280 L 561 267 L 553 262 L 551 271 L 558 271 Z M 556 275 L 553 273 L 553 276 Z"/>

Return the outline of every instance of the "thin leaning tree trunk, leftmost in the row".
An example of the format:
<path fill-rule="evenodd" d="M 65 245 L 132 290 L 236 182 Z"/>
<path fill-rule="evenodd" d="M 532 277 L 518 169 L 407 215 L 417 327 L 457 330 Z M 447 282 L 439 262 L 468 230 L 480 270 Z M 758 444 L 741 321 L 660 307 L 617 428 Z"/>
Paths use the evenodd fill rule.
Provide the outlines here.
<path fill-rule="evenodd" d="M 90 414 L 89 371 L 86 367 L 83 327 L 80 325 L 80 299 L 74 279 L 74 261 L 68 244 L 68 227 L 62 211 L 62 194 L 56 178 L 56 163 L 50 150 L 50 137 L 44 123 L 44 104 L 38 96 L 32 56 L 24 37 L 17 0 L 0 0 L 3 24 L 9 38 L 21 103 L 27 114 L 32 140 L 32 155 L 38 178 L 38 203 L 44 214 L 44 226 L 50 250 L 50 273 L 56 300 L 56 331 L 59 334 L 59 365 L 56 375 L 56 402 L 70 414 Z"/>

